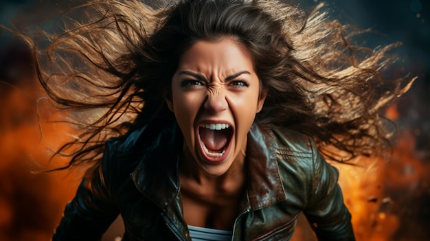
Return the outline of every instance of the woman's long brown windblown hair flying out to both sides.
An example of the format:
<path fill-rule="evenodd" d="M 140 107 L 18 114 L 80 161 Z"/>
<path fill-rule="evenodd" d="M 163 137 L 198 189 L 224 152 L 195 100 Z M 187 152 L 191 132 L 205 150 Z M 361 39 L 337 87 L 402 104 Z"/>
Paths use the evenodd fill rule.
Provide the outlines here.
<path fill-rule="evenodd" d="M 398 44 L 354 46 L 351 39 L 363 31 L 330 20 L 321 8 L 307 14 L 272 0 L 184 0 L 156 8 L 103 0 L 74 9 L 84 10 L 84 20 L 68 19 L 46 51 L 34 45 L 52 100 L 96 116 L 73 121 L 82 132 L 58 151 L 79 147 L 66 168 L 98 162 L 109 137 L 173 122 L 166 97 L 179 57 L 196 41 L 221 38 L 234 39 L 253 58 L 267 93 L 258 124 L 307 133 L 336 161 L 386 150 L 387 124 L 394 123 L 382 111 L 413 82 L 383 76 L 396 60 L 387 51 Z"/>

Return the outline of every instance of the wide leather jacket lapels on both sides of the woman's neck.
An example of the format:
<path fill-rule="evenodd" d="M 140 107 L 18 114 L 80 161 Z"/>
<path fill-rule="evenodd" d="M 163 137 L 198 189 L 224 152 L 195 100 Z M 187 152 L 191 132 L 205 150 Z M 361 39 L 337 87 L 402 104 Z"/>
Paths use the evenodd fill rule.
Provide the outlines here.
<path fill-rule="evenodd" d="M 174 135 L 172 135 L 174 133 Z M 144 134 L 144 133 L 143 133 Z M 166 210 L 179 195 L 179 157 L 183 136 L 177 124 L 164 128 L 131 173 L 137 189 Z M 247 141 L 249 186 L 245 207 L 262 209 L 286 200 L 271 131 L 251 126 Z"/>

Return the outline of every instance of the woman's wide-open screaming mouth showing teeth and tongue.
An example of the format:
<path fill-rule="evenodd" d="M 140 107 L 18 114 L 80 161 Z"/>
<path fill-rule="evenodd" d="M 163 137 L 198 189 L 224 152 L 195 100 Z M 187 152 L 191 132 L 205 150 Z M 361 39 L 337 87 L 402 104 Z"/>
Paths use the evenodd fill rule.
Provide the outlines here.
<path fill-rule="evenodd" d="M 232 134 L 229 124 L 203 124 L 199 126 L 199 139 L 205 156 L 209 159 L 223 157 Z"/>

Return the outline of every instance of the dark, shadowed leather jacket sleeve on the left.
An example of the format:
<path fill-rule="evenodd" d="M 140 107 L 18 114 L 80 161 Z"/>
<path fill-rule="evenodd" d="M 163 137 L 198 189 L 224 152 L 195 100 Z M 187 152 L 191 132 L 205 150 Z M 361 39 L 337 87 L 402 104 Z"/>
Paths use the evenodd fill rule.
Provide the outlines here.
<path fill-rule="evenodd" d="M 109 167 L 115 163 L 114 149 L 106 145 L 102 163 L 91 176 L 82 179 L 76 196 L 65 207 L 53 241 L 101 240 L 103 233 L 117 218 L 119 211 L 109 190 L 110 185 L 106 185 L 115 169 Z"/>

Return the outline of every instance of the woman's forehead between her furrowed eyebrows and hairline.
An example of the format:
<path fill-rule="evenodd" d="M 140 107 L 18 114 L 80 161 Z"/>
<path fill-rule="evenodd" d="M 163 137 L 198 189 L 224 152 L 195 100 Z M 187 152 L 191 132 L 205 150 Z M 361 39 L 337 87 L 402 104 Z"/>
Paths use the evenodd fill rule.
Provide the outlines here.
<path fill-rule="evenodd" d="M 253 71 L 253 59 L 249 50 L 232 40 L 196 41 L 179 59 L 178 70 L 193 71 Z"/>

